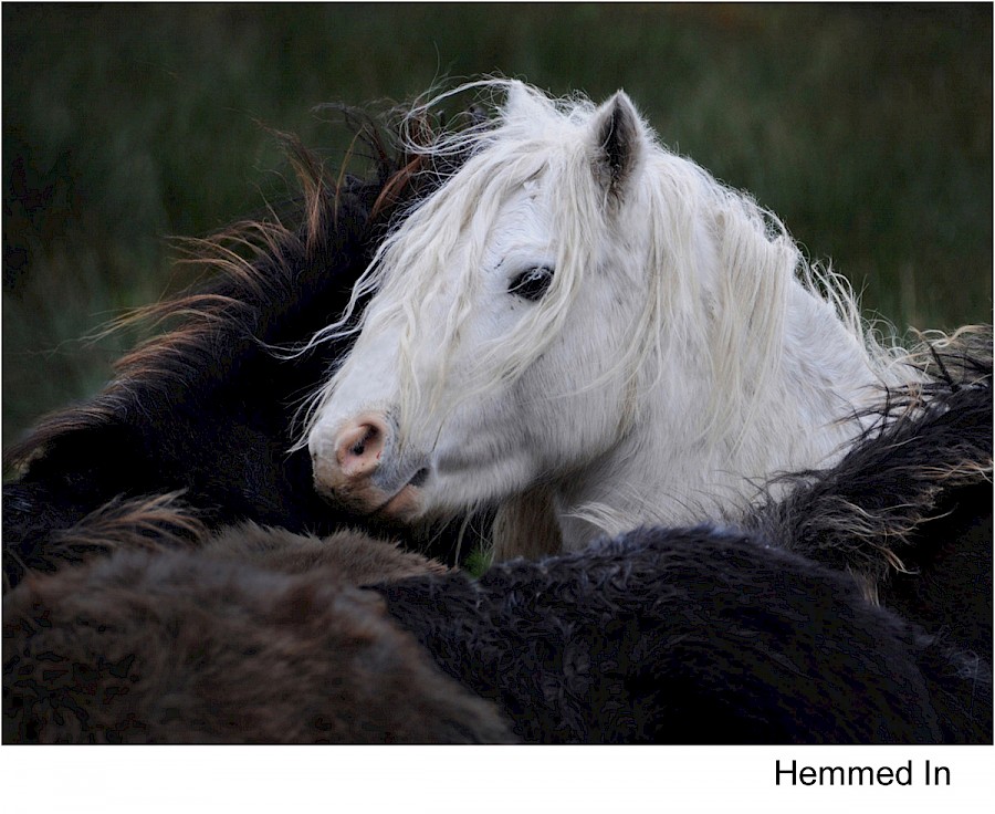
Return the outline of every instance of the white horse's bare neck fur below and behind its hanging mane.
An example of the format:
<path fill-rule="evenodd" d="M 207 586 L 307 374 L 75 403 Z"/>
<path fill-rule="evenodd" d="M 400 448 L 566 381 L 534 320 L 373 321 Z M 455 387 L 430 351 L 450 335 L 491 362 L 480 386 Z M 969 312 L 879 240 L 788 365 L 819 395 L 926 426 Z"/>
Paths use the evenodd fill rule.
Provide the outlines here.
<path fill-rule="evenodd" d="M 558 484 L 553 507 L 565 549 L 645 523 L 733 519 L 773 476 L 841 457 L 869 420 L 856 414 L 880 399 L 886 366 L 796 281 L 787 305 L 776 369 L 748 410 L 727 416 L 721 437 L 695 426 L 711 385 L 674 369 L 619 445 Z"/>

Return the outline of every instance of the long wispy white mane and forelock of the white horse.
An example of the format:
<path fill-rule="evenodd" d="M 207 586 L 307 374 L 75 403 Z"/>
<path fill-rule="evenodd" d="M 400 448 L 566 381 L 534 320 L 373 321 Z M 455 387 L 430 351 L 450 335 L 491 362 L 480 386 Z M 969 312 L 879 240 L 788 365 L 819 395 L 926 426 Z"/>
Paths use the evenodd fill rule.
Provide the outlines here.
<path fill-rule="evenodd" d="M 792 281 L 817 292 L 826 307 L 836 311 L 853 343 L 863 349 L 873 378 L 894 380 L 897 343 L 890 337 L 879 342 L 862 322 L 849 284 L 829 270 L 810 265 L 782 222 L 751 197 L 674 155 L 647 131 L 650 148 L 641 158 L 645 165 L 639 182 L 627 199 L 628 211 L 638 216 L 619 227 L 606 217 L 611 201 L 590 171 L 591 156 L 577 148 L 596 112 L 589 100 L 580 95 L 553 98 L 521 82 L 488 80 L 417 104 L 409 121 L 421 121 L 427 112 L 469 90 L 489 100 L 494 115 L 469 128 L 443 133 L 428 146 L 413 140 L 407 144 L 409 150 L 431 159 L 467 158 L 437 192 L 399 219 L 357 282 L 346 312 L 316 334 L 312 344 L 362 331 L 368 314 L 354 320 L 356 305 L 376 293 L 388 303 L 386 311 L 378 312 L 380 324 L 405 326 L 402 405 L 431 398 L 446 379 L 450 351 L 460 342 L 470 294 L 479 284 L 475 272 L 502 204 L 524 185 L 544 177 L 546 187 L 555 190 L 549 204 L 559 236 L 553 284 L 514 332 L 489 348 L 481 358 L 479 376 L 462 383 L 462 393 L 514 379 L 548 347 L 570 317 L 585 279 L 598 272 L 595 258 L 606 230 L 619 228 L 636 236 L 632 246 L 643 253 L 631 258 L 633 264 L 652 270 L 645 281 L 646 305 L 632 326 L 628 348 L 616 363 L 618 371 L 625 371 L 632 396 L 620 429 L 635 417 L 639 388 L 666 376 L 668 359 L 680 354 L 703 359 L 701 373 L 713 385 L 711 401 L 701 415 L 702 439 L 715 443 L 731 426 L 740 435 L 745 432 L 755 409 L 754 397 L 765 390 L 779 364 Z M 502 94 L 505 102 L 495 105 L 493 100 Z M 694 240 L 701 230 L 710 231 L 711 240 Z M 442 259 L 461 240 L 468 241 L 469 262 L 448 270 L 448 276 L 441 274 Z M 699 247 L 703 244 L 718 247 L 718 255 L 702 255 Z M 722 273 L 716 274 L 716 269 Z M 453 273 L 459 275 L 455 282 Z M 455 292 L 444 321 L 444 341 L 417 347 L 412 341 L 413 304 L 432 296 L 441 285 L 453 286 Z M 428 361 L 427 355 L 433 359 Z M 416 357 L 422 364 L 416 365 Z M 436 369 L 433 382 L 406 375 L 416 366 L 426 369 L 427 362 Z M 305 436 L 334 387 L 333 378 L 315 394 Z M 747 420 L 731 422 L 727 419 L 733 415 Z"/>

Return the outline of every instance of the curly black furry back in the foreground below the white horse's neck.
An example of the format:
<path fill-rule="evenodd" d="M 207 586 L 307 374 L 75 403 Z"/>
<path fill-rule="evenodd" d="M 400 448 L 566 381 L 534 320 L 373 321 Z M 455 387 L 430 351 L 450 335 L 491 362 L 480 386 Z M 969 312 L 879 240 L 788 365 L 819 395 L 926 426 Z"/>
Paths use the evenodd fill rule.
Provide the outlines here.
<path fill-rule="evenodd" d="M 527 742 L 992 740 L 976 659 L 734 530 L 640 530 L 376 591 Z"/>

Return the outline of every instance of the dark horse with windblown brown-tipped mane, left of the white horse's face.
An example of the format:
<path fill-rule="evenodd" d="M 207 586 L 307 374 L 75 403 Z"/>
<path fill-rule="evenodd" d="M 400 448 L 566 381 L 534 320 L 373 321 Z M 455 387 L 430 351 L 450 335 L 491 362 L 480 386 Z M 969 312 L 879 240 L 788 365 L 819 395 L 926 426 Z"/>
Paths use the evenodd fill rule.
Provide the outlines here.
<path fill-rule="evenodd" d="M 329 180 L 289 139 L 303 187 L 290 222 L 245 222 L 206 241 L 205 262 L 223 273 L 147 310 L 178 324 L 122 358 L 97 396 L 43 418 L 7 450 L 21 476 L 3 490 L 6 585 L 135 530 L 182 539 L 195 526 L 251 520 L 329 533 L 350 520 L 315 493 L 306 451 L 287 452 L 300 400 L 345 347 L 292 359 L 271 347 L 303 342 L 337 316 L 397 206 L 431 185 L 418 160 L 365 132 L 371 180 Z M 239 258 L 233 248 L 247 246 Z M 163 512 L 174 493 L 181 500 Z M 72 546 L 60 544 L 97 510 L 100 540 L 76 534 Z"/>

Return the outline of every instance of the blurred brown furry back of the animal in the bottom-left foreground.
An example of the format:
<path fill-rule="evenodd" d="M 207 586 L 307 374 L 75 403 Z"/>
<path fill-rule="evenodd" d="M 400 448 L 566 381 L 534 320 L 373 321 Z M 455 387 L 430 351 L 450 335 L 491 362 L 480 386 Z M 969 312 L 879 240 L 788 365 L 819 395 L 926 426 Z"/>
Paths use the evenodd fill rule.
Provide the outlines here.
<path fill-rule="evenodd" d="M 4 742 L 509 742 L 336 570 L 116 552 L 3 601 Z"/>

